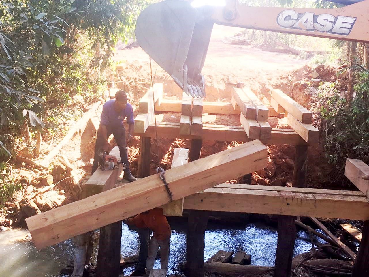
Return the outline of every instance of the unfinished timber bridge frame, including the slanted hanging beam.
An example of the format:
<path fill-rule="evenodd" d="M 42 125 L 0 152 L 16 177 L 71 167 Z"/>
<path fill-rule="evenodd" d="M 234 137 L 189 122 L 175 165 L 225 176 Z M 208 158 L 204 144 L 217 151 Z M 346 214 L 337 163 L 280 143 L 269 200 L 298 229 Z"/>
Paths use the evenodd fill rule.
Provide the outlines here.
<path fill-rule="evenodd" d="M 114 223 L 113 227 L 110 223 L 157 206 L 164 205 L 167 215 L 182 215 L 183 209 L 187 209 L 186 265 L 190 276 L 203 277 L 208 211 L 268 213 L 280 215 L 278 232 L 283 234 L 278 236 L 274 277 L 286 277 L 291 269 L 296 216 L 369 220 L 369 182 L 360 178 L 369 174 L 367 165 L 356 160 L 348 160 L 346 165 L 346 176 L 360 191 L 306 188 L 308 146 L 319 142 L 319 131 L 311 125 L 311 112 L 280 90 L 271 90 L 271 106 L 266 107 L 248 88 L 228 89 L 232 94 L 231 103 L 203 102 L 187 95 L 177 101 L 163 99 L 162 84 L 155 84 L 140 100 L 139 114 L 135 118 L 135 136 L 140 137 L 138 177 L 144 179 L 121 184 L 117 179 L 122 169 L 98 169 L 86 183 L 96 195 L 27 219 L 36 246 L 54 244 L 102 226 L 112 231 L 119 228 L 119 224 Z M 156 114 L 155 131 L 154 111 L 181 112 L 180 122 L 163 122 L 164 116 Z M 202 124 L 203 113 L 239 114 L 241 126 Z M 282 114 L 287 116 L 292 129 L 269 126 L 268 116 Z M 166 172 L 172 202 L 158 176 L 149 176 L 151 138 L 156 132 L 158 137 L 191 139 L 190 151 L 176 149 L 172 168 Z M 204 139 L 248 143 L 198 160 Z M 292 188 L 222 183 L 266 167 L 264 144 L 296 146 Z M 111 154 L 119 157 L 117 151 L 116 147 Z M 191 162 L 187 164 L 188 161 Z M 119 232 L 111 233 L 115 235 L 108 245 L 119 247 L 118 243 L 116 246 L 111 243 Z M 362 248 L 366 249 L 369 243 L 364 237 L 367 235 L 363 235 Z M 103 252 L 101 256 L 108 255 L 111 250 L 99 249 L 99 255 Z M 356 267 L 365 267 L 367 259 L 366 254 L 359 255 Z"/>

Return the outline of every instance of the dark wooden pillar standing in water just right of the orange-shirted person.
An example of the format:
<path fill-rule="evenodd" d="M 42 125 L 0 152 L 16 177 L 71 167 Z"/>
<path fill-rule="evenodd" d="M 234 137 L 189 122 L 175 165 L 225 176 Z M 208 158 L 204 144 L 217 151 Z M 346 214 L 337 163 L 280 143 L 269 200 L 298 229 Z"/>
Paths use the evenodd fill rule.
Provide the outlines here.
<path fill-rule="evenodd" d="M 188 215 L 186 276 L 204 277 L 205 230 L 208 213 L 190 210 Z"/>

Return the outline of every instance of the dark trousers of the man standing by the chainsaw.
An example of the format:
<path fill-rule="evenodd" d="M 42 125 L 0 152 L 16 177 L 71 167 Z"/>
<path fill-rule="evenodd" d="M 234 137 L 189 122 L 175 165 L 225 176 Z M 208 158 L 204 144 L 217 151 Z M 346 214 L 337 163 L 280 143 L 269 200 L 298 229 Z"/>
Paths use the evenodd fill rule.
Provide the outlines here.
<path fill-rule="evenodd" d="M 130 162 L 128 161 L 127 149 L 125 148 L 125 129 L 123 126 L 106 126 L 107 129 L 107 137 L 102 137 L 101 133 L 97 131 L 96 136 L 96 144 L 95 144 L 95 155 L 93 159 L 92 172 L 95 172 L 99 167 L 99 153 L 102 152 L 101 148 L 104 146 L 104 143 L 110 137 L 111 134 L 114 136 L 115 143 L 119 148 L 120 160 L 122 163 L 127 165 L 124 169 L 124 173 L 130 173 Z"/>

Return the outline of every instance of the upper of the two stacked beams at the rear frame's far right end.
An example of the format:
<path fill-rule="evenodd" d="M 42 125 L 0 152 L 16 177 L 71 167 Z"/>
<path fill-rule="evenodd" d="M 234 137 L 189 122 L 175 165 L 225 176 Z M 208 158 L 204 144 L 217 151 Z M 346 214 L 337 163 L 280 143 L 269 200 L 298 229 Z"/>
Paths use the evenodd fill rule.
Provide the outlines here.
<path fill-rule="evenodd" d="M 290 113 L 294 118 L 299 120 L 301 123 L 311 123 L 311 118 L 313 114 L 297 103 L 295 100 L 284 94 L 279 89 L 270 89 L 270 94 L 272 98 L 275 99 L 280 106 L 283 107 L 288 113 Z"/>

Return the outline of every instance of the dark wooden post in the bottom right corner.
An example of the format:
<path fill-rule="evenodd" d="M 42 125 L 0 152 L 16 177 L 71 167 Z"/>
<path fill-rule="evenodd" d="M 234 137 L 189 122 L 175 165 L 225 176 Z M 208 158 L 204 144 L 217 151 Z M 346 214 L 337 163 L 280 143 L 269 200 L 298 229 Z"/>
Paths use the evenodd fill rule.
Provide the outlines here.
<path fill-rule="evenodd" d="M 364 222 L 359 252 L 352 269 L 352 277 L 362 276 L 369 276 L 369 221 Z"/>

